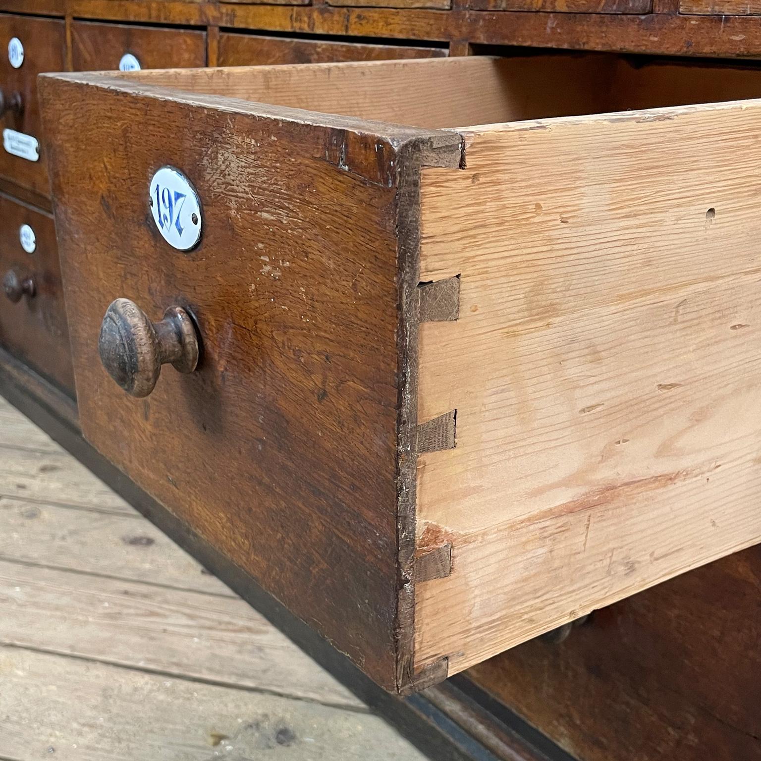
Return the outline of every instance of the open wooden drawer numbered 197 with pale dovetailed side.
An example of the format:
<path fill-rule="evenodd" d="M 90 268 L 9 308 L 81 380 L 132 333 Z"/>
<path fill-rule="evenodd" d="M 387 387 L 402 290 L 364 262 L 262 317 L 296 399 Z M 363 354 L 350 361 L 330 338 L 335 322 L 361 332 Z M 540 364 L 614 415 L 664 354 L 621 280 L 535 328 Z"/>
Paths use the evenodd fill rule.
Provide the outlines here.
<path fill-rule="evenodd" d="M 761 540 L 757 69 L 41 82 L 85 435 L 384 686 Z"/>

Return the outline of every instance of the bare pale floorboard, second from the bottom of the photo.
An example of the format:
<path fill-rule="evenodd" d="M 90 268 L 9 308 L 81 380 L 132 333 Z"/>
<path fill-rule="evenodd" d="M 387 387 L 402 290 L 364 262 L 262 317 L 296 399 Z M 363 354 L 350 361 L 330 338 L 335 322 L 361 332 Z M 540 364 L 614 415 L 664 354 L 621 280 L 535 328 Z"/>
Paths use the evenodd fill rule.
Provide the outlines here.
<path fill-rule="evenodd" d="M 239 597 L 0 561 L 0 600 L 6 645 L 366 710 Z"/>

